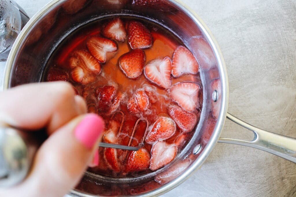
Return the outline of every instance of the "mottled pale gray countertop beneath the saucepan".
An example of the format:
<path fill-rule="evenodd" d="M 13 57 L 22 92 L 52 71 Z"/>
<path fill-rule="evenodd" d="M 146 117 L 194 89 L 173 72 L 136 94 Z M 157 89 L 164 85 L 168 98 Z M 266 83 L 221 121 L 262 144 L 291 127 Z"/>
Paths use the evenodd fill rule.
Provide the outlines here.
<path fill-rule="evenodd" d="M 15 0 L 31 17 L 50 0 Z M 296 138 L 295 0 L 184 0 L 215 35 L 229 76 L 229 113 Z M 0 64 L 0 80 L 4 64 Z M 223 137 L 252 139 L 226 120 Z M 250 147 L 217 144 L 163 196 L 296 196 L 296 164 Z"/>

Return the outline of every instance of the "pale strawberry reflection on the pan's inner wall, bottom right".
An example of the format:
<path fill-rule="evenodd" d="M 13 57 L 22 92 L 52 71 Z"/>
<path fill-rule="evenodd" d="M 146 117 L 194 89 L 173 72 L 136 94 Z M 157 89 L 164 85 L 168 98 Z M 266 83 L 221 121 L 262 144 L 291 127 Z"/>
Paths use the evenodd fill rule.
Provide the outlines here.
<path fill-rule="evenodd" d="M 160 184 L 165 184 L 170 182 L 171 180 L 177 178 L 190 164 L 190 159 L 185 159 L 182 162 L 177 162 L 172 165 L 168 170 L 158 174 L 155 177 L 155 181 Z"/>

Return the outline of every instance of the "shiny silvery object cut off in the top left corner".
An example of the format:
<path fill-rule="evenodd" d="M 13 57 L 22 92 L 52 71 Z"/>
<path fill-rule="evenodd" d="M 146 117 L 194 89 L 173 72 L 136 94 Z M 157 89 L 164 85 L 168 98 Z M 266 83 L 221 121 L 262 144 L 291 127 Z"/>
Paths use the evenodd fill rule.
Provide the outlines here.
<path fill-rule="evenodd" d="M 0 0 L 0 61 L 5 61 L 9 51 L 28 22 L 25 11 L 13 0 Z"/>

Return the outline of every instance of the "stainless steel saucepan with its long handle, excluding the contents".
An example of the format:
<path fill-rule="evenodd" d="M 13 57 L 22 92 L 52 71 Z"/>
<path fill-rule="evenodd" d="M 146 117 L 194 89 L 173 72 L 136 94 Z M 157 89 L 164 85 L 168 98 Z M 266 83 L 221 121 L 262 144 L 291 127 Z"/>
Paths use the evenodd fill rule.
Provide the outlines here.
<path fill-rule="evenodd" d="M 149 19 L 173 32 L 200 66 L 202 111 L 192 139 L 171 164 L 155 172 L 112 178 L 86 172 L 72 196 L 156 196 L 201 167 L 217 142 L 251 146 L 296 162 L 296 139 L 251 126 L 227 113 L 229 87 L 222 53 L 202 19 L 178 0 L 53 0 L 25 25 L 9 54 L 4 89 L 41 82 L 46 63 L 71 32 L 97 19 L 115 16 Z M 36 95 L 38 96 L 38 95 Z M 226 118 L 251 130 L 252 141 L 219 138 Z"/>

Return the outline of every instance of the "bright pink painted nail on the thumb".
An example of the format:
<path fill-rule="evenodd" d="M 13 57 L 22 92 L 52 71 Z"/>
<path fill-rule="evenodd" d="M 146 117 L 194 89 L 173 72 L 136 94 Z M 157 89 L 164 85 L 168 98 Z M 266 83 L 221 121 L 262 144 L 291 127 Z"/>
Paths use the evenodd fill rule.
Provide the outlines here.
<path fill-rule="evenodd" d="M 88 149 L 92 149 L 104 129 L 104 121 L 96 114 L 89 114 L 75 128 L 76 138 Z"/>

